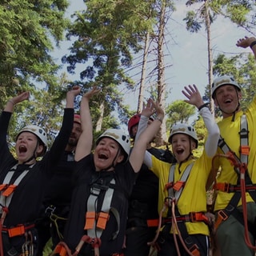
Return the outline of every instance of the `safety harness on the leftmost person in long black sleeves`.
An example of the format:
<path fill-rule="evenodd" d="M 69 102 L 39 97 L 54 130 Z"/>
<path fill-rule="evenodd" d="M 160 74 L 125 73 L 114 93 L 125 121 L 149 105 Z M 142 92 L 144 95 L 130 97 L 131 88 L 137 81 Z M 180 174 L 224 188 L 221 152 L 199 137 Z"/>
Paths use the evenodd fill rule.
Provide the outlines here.
<path fill-rule="evenodd" d="M 19 224 L 18 226 L 7 227 L 4 226 L 4 221 L 6 214 L 8 214 L 8 207 L 13 198 L 14 191 L 18 187 L 19 183 L 25 178 L 26 174 L 31 170 L 34 165 L 29 166 L 27 170 L 23 170 L 21 174 L 18 175 L 18 178 L 14 180 L 13 184 L 10 184 L 11 179 L 17 170 L 18 164 L 11 168 L 11 170 L 6 174 L 2 185 L 0 185 L 0 247 L 5 246 L 7 253 L 9 255 L 18 255 L 17 250 L 11 246 L 9 238 L 14 238 L 16 236 L 25 235 L 26 242 L 22 245 L 22 253 L 26 255 L 33 255 L 33 236 L 31 234 L 31 229 L 34 228 L 34 223 Z M 4 234 L 4 235 L 2 235 Z M 0 256 L 3 256 L 3 250 L 0 250 Z"/>

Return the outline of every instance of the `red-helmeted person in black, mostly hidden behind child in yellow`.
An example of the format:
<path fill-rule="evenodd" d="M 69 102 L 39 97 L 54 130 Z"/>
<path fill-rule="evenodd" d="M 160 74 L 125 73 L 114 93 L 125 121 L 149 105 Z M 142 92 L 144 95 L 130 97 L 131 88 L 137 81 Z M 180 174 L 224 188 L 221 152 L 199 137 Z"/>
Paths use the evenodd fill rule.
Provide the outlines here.
<path fill-rule="evenodd" d="M 134 139 L 138 131 L 140 114 L 135 114 L 128 122 L 130 138 Z M 154 122 L 149 118 L 148 126 Z M 147 145 L 147 151 L 165 162 L 174 162 L 174 156 L 169 150 L 160 150 Z M 150 252 L 150 242 L 155 235 L 158 221 L 158 178 L 146 165 L 142 165 L 134 183 L 130 196 L 128 222 L 126 230 L 126 256 L 147 256 Z"/>

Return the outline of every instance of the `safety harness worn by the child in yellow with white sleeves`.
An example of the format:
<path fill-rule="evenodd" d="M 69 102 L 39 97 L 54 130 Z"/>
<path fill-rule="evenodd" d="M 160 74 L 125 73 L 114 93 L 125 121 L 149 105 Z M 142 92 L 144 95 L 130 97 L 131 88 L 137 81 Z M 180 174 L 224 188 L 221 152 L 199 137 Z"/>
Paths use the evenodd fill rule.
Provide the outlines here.
<path fill-rule="evenodd" d="M 186 186 L 186 180 L 190 176 L 190 171 L 194 166 L 194 162 L 186 166 L 186 170 L 182 174 L 181 179 L 178 182 L 174 182 L 174 170 L 175 164 L 170 167 L 169 173 L 169 182 L 166 184 L 166 190 L 168 190 L 168 198 L 165 198 L 164 208 L 161 211 L 160 218 L 164 210 L 168 209 L 167 218 L 162 218 L 162 223 L 158 226 L 158 233 L 154 240 L 149 244 L 154 246 L 154 243 L 157 241 L 159 230 L 162 224 L 165 224 L 165 231 L 170 233 L 170 228 L 173 226 L 174 241 L 176 245 L 176 250 L 179 252 L 176 232 L 184 246 L 184 249 L 189 255 L 199 256 L 200 252 L 198 250 L 198 245 L 194 243 L 194 240 L 191 238 L 186 230 L 185 222 L 206 222 L 208 224 L 208 218 L 202 212 L 190 212 L 189 214 L 180 214 L 178 210 L 178 200 L 182 194 L 182 190 Z M 157 246 L 157 245 L 156 245 Z"/>

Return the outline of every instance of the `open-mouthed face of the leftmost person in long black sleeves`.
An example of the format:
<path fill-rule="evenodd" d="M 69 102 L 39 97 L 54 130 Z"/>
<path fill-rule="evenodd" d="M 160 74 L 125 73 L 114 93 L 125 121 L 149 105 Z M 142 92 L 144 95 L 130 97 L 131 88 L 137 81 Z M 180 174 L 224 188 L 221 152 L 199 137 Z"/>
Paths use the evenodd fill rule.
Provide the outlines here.
<path fill-rule="evenodd" d="M 40 155 L 43 149 L 44 147 L 38 144 L 38 137 L 35 134 L 24 131 L 18 135 L 15 150 L 19 164 L 29 160 L 34 153 L 36 156 Z M 31 161 L 35 161 L 35 158 Z"/>

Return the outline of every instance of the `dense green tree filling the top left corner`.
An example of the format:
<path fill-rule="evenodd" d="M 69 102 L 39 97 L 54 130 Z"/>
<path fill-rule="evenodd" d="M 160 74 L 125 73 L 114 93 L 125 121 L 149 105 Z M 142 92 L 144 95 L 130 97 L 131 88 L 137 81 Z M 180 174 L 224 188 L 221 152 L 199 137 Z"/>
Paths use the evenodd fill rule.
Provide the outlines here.
<path fill-rule="evenodd" d="M 9 94 L 30 88 L 33 80 L 47 85 L 57 82 L 58 66 L 50 51 L 53 42 L 62 40 L 67 6 L 66 0 L 0 4 L 0 105 Z"/>

